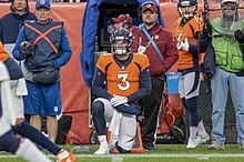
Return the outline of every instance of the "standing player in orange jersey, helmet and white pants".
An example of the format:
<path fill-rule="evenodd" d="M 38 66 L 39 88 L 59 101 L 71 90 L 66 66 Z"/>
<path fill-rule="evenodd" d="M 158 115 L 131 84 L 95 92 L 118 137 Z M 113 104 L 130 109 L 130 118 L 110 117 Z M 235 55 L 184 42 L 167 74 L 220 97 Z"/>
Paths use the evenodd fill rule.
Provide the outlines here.
<path fill-rule="evenodd" d="M 187 39 L 199 40 L 203 20 L 195 17 L 197 11 L 195 0 L 179 0 L 177 11 L 180 18 L 175 23 L 174 36 L 180 55 L 177 69 L 182 73 L 179 93 L 190 115 L 190 138 L 186 148 L 195 148 L 200 143 L 205 143 L 210 136 L 204 129 L 197 107 L 201 82 L 199 44 L 190 45 Z"/>

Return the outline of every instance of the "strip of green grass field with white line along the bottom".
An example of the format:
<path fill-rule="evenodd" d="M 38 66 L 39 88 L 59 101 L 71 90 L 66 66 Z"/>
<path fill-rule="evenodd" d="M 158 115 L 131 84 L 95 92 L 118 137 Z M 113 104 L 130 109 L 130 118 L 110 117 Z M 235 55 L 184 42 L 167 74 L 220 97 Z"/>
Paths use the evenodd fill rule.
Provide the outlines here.
<path fill-rule="evenodd" d="M 71 150 L 77 145 L 62 145 Z M 207 145 L 186 149 L 184 144 L 157 144 L 155 151 L 132 153 L 93 155 L 99 145 L 88 145 L 88 152 L 74 152 L 78 162 L 244 162 L 244 150 L 237 144 L 226 144 L 224 151 L 207 150 Z M 53 155 L 48 154 L 55 161 Z M 1 153 L 0 162 L 24 162 L 20 158 Z"/>

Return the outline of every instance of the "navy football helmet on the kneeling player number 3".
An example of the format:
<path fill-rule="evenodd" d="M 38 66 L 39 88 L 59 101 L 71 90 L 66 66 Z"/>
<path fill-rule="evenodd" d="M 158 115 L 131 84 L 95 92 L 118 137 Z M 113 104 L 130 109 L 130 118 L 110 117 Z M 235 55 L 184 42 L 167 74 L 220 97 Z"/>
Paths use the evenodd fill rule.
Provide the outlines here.
<path fill-rule="evenodd" d="M 110 42 L 115 54 L 125 54 L 131 52 L 132 41 L 133 36 L 125 28 L 115 30 L 110 37 Z"/>

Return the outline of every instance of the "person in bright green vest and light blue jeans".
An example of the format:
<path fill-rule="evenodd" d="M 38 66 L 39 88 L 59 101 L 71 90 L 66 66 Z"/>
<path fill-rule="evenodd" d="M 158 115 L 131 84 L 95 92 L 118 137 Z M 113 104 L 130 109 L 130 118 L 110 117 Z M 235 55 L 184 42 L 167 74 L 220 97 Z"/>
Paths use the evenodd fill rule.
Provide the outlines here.
<path fill-rule="evenodd" d="M 240 18 L 238 0 L 222 0 L 221 16 L 213 19 L 212 29 L 203 30 L 201 50 L 213 53 L 215 73 L 212 89 L 212 144 L 210 150 L 224 150 L 224 117 L 228 91 L 235 109 L 237 144 L 244 150 L 244 21 Z M 212 30 L 212 33 L 210 32 Z M 210 37 L 211 36 L 211 37 Z"/>

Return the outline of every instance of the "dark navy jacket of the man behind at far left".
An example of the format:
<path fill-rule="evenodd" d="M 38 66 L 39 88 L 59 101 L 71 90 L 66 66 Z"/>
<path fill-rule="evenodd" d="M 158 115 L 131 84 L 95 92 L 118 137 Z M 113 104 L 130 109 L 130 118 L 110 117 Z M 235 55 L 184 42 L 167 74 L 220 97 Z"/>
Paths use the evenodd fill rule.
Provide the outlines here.
<path fill-rule="evenodd" d="M 14 0 L 13 0 L 14 1 Z M 20 16 L 13 8 L 13 1 L 10 6 L 10 13 L 0 19 L 0 40 L 3 44 L 16 43 L 18 33 L 26 20 L 35 20 L 35 16 L 29 11 L 28 0 L 26 13 Z"/>

